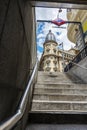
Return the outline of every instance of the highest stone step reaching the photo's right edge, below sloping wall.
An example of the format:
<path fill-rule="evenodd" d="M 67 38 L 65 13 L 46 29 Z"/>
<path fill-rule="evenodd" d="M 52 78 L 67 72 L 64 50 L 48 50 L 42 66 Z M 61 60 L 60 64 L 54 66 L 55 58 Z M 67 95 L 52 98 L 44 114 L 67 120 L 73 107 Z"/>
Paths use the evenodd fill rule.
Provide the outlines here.
<path fill-rule="evenodd" d="M 87 89 L 87 84 L 71 84 L 71 83 L 37 83 L 36 88 L 50 88 L 50 89 Z"/>

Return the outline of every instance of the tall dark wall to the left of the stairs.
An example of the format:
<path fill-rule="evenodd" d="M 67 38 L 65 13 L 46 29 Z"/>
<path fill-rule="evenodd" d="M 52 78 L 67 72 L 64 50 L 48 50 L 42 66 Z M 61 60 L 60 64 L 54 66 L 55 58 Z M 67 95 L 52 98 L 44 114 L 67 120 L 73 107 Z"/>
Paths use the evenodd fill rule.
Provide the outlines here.
<path fill-rule="evenodd" d="M 16 110 L 35 64 L 33 23 L 29 2 L 0 0 L 0 122 Z"/>

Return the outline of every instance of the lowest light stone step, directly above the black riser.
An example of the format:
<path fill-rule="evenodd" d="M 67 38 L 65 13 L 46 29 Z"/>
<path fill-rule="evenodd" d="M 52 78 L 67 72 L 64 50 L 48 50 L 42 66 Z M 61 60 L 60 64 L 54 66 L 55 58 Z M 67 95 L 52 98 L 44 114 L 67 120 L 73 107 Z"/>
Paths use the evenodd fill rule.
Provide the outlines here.
<path fill-rule="evenodd" d="M 87 102 L 33 100 L 31 111 L 86 111 Z"/>

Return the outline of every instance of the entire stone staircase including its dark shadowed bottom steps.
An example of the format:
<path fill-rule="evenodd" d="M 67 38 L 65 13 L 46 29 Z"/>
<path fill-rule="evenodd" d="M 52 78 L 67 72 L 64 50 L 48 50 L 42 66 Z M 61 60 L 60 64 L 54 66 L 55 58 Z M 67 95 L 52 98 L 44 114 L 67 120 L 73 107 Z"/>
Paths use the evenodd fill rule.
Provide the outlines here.
<path fill-rule="evenodd" d="M 26 130 L 87 130 L 87 84 L 39 71 Z"/>

